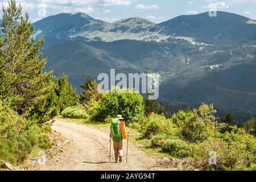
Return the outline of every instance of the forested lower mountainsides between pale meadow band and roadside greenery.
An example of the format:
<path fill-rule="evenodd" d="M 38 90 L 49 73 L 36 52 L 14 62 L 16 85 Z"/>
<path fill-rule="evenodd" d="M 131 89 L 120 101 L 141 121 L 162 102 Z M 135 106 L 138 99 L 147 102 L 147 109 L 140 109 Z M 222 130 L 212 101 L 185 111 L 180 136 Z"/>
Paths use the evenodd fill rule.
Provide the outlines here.
<path fill-rule="evenodd" d="M 221 50 L 220 50 L 221 48 Z M 140 51 L 136 51 L 140 50 Z M 216 51 L 218 50 L 218 51 Z M 123 73 L 160 73 L 160 98 L 177 104 L 214 103 L 255 111 L 256 59 L 253 47 L 210 47 L 119 40 L 71 42 L 44 51 L 47 70 L 68 74 L 78 86 L 110 68 Z"/>

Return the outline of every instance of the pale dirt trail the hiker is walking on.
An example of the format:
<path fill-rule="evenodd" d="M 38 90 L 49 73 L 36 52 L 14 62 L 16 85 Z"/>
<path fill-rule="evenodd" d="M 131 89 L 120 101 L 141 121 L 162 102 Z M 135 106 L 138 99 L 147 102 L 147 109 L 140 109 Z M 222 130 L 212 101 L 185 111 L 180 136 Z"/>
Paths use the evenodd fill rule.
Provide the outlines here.
<path fill-rule="evenodd" d="M 53 130 L 71 139 L 72 143 L 61 153 L 61 159 L 51 159 L 40 170 L 86 170 L 86 171 L 109 171 L 109 170 L 163 170 L 155 168 L 155 159 L 149 158 L 145 152 L 139 150 L 133 144 L 129 144 L 129 158 L 126 163 L 126 150 L 123 151 L 123 163 L 115 164 L 112 146 L 112 163 L 109 163 L 109 135 L 93 127 L 56 120 Z M 126 149 L 126 140 L 123 148 Z"/>

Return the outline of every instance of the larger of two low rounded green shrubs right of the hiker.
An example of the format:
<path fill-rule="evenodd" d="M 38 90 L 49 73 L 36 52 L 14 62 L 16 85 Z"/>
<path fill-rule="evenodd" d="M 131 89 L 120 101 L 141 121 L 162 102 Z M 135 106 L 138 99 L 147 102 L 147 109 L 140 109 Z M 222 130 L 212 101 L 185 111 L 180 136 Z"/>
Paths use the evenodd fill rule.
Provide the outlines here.
<path fill-rule="evenodd" d="M 183 158 L 188 154 L 188 143 L 180 139 L 167 139 L 162 145 L 162 150 L 172 156 Z"/>

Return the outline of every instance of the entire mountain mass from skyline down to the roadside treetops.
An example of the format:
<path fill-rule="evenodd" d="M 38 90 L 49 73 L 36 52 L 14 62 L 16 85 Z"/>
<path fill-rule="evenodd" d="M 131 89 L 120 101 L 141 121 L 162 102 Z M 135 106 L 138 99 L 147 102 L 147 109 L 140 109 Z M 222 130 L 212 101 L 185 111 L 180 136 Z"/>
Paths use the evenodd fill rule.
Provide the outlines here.
<path fill-rule="evenodd" d="M 213 103 L 233 113 L 256 113 L 256 21 L 217 12 L 181 15 L 159 24 L 143 18 L 114 23 L 89 15 L 58 14 L 34 23 L 46 39 L 46 70 L 84 78 L 109 73 L 160 73 L 160 100 Z M 79 89 L 79 92 L 81 90 Z M 235 110 L 235 111 L 234 111 Z"/>

